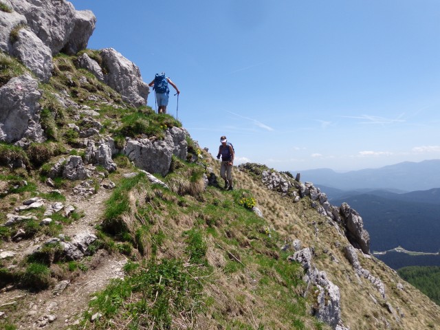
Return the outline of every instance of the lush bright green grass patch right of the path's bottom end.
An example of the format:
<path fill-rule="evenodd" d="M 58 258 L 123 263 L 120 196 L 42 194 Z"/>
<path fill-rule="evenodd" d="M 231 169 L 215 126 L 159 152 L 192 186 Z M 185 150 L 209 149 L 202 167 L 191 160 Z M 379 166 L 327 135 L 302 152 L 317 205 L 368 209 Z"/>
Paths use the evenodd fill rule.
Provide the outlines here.
<path fill-rule="evenodd" d="M 113 281 L 91 301 L 82 326 L 87 327 L 91 314 L 99 311 L 102 318 L 94 325 L 96 329 L 108 329 L 115 319 L 127 329 L 172 329 L 173 316 L 184 318 L 202 310 L 202 285 L 196 279 L 199 268 L 170 259 L 151 261 L 144 267 L 131 264 L 130 271 L 130 276 Z"/>

